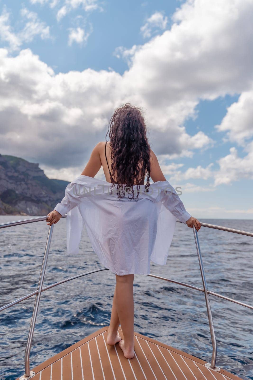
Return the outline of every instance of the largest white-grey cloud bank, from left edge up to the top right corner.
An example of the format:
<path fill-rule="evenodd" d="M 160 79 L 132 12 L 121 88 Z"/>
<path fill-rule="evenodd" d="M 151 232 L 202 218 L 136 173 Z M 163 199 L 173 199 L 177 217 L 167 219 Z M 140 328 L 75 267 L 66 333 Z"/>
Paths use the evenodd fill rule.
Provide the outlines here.
<path fill-rule="evenodd" d="M 55 75 L 29 49 L 16 57 L 0 49 L 1 152 L 54 168 L 80 165 L 104 140 L 105 120 L 130 101 L 143 107 L 157 155 L 192 157 L 214 143 L 184 127 L 199 101 L 241 93 L 252 82 L 252 12 L 249 0 L 188 1 L 170 30 L 135 49 L 123 75 L 91 69 Z"/>

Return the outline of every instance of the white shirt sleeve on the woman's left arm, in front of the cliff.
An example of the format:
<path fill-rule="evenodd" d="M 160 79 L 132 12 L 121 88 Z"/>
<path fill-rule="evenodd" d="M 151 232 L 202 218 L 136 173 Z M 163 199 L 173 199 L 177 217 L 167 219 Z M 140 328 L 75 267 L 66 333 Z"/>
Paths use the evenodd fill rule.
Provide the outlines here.
<path fill-rule="evenodd" d="M 65 196 L 60 203 L 57 203 L 54 210 L 59 212 L 62 216 L 71 211 L 75 206 L 78 206 L 82 199 L 82 192 L 77 184 L 71 182 L 65 190 Z"/>

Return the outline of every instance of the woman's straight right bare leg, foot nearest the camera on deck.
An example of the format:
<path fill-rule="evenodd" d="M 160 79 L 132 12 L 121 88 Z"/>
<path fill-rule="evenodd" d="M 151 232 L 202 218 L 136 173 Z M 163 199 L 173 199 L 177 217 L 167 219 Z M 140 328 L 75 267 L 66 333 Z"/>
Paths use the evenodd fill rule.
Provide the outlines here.
<path fill-rule="evenodd" d="M 134 274 L 116 275 L 116 307 L 124 340 L 119 347 L 125 358 L 134 357 Z"/>

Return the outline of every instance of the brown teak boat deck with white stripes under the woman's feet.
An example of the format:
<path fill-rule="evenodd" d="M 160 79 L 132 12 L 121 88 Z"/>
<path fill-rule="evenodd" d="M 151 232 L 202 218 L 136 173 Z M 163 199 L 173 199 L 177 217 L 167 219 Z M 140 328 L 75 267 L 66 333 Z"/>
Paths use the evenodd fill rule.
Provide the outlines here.
<path fill-rule="evenodd" d="M 33 380 L 242 380 L 157 340 L 134 333 L 135 355 L 126 359 L 118 343 L 106 344 L 108 327 L 33 368 Z M 122 330 L 119 333 L 124 339 Z M 22 374 L 20 374 L 21 376 Z M 18 378 L 19 379 L 19 378 Z M 17 379 L 17 380 L 18 380 Z"/>

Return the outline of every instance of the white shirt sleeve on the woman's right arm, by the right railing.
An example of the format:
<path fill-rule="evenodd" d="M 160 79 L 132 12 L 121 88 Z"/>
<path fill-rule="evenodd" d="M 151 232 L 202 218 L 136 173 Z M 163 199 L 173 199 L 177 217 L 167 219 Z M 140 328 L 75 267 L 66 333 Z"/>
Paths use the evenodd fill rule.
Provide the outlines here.
<path fill-rule="evenodd" d="M 174 187 L 168 181 L 166 189 L 163 189 L 162 204 L 173 214 L 180 222 L 185 223 L 191 215 L 185 210 L 184 204 L 179 198 Z"/>

